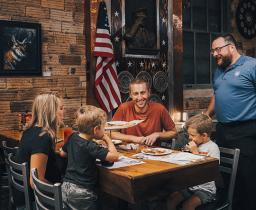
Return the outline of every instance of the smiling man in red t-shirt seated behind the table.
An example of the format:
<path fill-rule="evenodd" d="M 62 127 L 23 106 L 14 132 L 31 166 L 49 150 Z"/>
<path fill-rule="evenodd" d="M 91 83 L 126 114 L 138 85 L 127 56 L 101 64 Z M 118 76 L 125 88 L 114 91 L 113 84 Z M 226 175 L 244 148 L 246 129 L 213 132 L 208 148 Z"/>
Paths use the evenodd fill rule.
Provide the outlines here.
<path fill-rule="evenodd" d="M 158 139 L 171 139 L 177 135 L 175 124 L 166 108 L 149 102 L 150 89 L 146 81 L 135 79 L 130 83 L 132 101 L 125 102 L 116 111 L 113 121 L 143 120 L 140 124 L 112 132 L 113 139 L 153 145 Z"/>

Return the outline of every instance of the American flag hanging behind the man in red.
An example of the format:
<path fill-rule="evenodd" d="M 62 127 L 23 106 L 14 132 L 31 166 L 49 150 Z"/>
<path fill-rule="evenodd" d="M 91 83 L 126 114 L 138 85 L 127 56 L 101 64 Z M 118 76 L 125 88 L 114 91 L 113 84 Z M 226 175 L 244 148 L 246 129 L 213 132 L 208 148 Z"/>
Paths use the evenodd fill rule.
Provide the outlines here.
<path fill-rule="evenodd" d="M 98 12 L 94 55 L 97 57 L 95 96 L 106 112 L 121 104 L 113 45 L 110 39 L 107 7 L 101 2 Z"/>

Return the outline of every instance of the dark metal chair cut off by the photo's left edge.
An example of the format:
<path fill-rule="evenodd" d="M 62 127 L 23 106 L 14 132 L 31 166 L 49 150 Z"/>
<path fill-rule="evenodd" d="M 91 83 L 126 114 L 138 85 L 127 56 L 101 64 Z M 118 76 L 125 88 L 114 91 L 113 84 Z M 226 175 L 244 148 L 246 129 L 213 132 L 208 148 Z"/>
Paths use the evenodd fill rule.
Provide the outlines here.
<path fill-rule="evenodd" d="M 8 155 L 9 154 L 16 154 L 18 151 L 18 147 L 9 147 L 7 146 L 6 141 L 1 141 L 1 146 L 4 154 L 4 162 L 5 162 L 5 168 L 6 168 L 6 174 L 2 174 L 2 179 L 8 180 L 8 185 L 6 186 L 1 186 L 2 188 L 7 188 L 8 193 L 9 193 L 9 198 L 8 198 L 8 208 L 11 209 L 12 206 L 14 205 L 13 201 L 13 196 L 12 196 L 12 188 L 11 188 L 11 179 L 10 179 L 10 170 L 9 170 L 9 161 L 8 161 Z"/>

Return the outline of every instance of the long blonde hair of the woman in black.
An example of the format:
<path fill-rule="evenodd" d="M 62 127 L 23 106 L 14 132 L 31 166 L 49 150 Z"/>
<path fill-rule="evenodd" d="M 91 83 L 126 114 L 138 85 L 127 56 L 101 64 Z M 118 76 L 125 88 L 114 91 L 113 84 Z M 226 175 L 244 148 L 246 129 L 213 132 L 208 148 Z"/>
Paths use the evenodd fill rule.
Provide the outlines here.
<path fill-rule="evenodd" d="M 56 138 L 58 119 L 57 111 L 60 106 L 60 98 L 54 94 L 40 94 L 33 103 L 32 119 L 29 127 L 38 126 L 43 132 L 48 133 L 53 140 Z"/>

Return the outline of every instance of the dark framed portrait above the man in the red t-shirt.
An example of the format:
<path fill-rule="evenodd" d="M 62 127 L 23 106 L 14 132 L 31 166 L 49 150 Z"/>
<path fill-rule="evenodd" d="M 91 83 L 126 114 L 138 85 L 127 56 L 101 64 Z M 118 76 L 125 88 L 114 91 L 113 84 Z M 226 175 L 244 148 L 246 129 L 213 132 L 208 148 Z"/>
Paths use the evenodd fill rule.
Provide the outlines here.
<path fill-rule="evenodd" d="M 123 56 L 159 56 L 159 0 L 122 0 Z"/>

